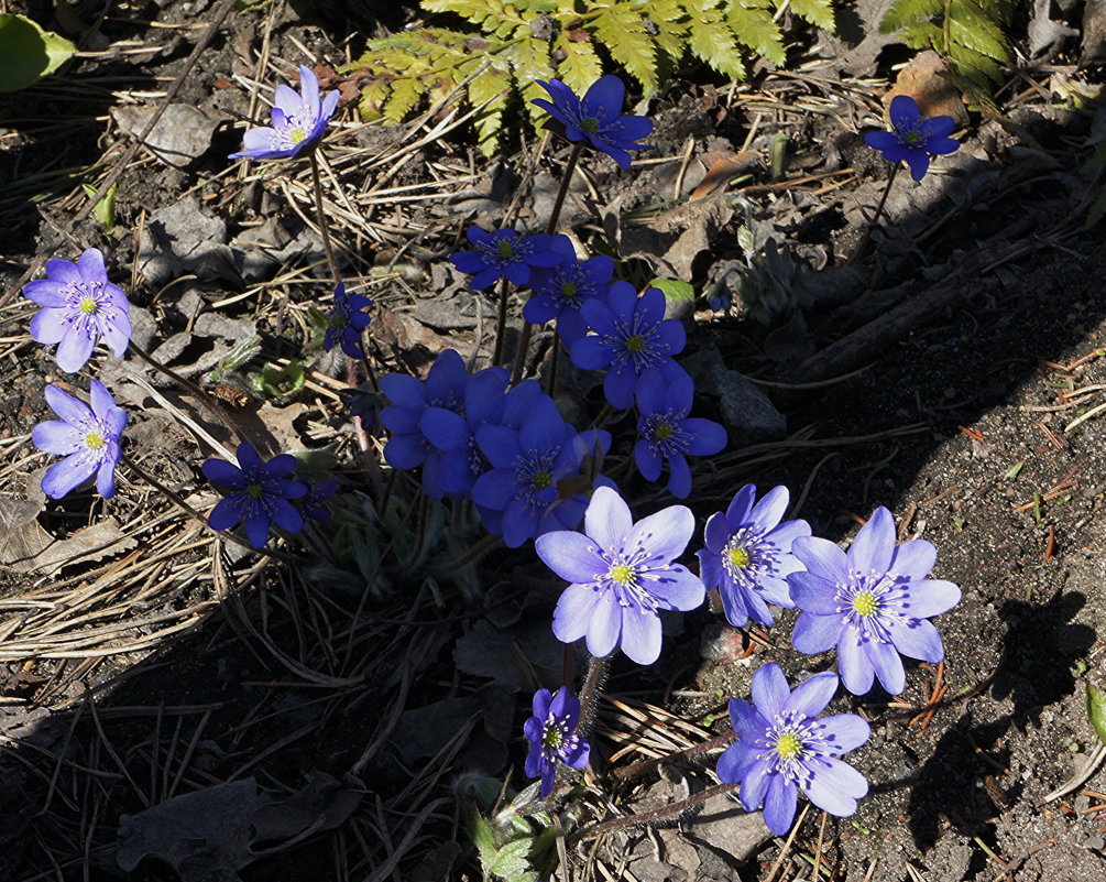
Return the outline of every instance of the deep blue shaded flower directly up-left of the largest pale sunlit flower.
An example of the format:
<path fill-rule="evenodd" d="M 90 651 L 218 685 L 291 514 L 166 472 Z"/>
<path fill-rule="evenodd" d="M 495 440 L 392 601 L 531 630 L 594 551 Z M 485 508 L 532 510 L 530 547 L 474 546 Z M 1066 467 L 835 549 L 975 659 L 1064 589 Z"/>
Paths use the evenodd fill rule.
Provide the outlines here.
<path fill-rule="evenodd" d="M 489 532 L 499 520 L 503 541 L 518 548 L 535 536 L 580 523 L 586 497 L 575 494 L 561 498 L 559 484 L 578 476 L 588 456 L 606 454 L 611 448 L 608 433 L 577 433 L 553 400 L 543 394 L 534 396 L 520 428 L 483 426 L 476 435 L 492 469 L 472 485 L 472 501 L 502 512 L 501 519 L 484 519 Z"/>

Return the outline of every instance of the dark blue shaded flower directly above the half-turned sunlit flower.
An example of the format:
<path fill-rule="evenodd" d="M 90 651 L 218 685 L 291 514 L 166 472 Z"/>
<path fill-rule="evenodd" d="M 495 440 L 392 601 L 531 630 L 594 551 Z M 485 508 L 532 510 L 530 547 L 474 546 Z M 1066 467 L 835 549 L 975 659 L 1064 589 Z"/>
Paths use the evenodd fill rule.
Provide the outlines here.
<path fill-rule="evenodd" d="M 682 370 L 646 374 L 637 386 L 638 440 L 634 461 L 646 480 L 657 480 L 668 460 L 668 491 L 677 499 L 691 492 L 687 455 L 710 456 L 726 446 L 726 429 L 710 419 L 689 418 L 695 383 Z"/>

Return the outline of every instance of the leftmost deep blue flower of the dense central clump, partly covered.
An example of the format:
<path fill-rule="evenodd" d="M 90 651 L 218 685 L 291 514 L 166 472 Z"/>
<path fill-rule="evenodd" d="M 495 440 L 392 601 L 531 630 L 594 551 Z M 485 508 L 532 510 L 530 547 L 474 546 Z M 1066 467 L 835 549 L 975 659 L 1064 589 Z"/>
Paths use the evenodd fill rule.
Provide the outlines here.
<path fill-rule="evenodd" d="M 409 374 L 380 377 L 380 391 L 392 402 L 380 411 L 380 424 L 392 433 L 384 447 L 384 460 L 398 469 L 424 466 L 422 486 L 435 499 L 442 497 L 438 485 L 441 454 L 422 433 L 422 414 L 428 407 L 462 413 L 467 382 L 465 360 L 451 349 L 438 356 L 425 382 Z"/>

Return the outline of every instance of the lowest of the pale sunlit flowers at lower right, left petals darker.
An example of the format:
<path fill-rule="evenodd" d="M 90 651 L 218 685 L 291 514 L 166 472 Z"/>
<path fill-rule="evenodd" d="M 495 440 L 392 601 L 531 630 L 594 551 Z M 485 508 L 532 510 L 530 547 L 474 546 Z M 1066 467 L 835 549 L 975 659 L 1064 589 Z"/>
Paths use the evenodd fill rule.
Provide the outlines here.
<path fill-rule="evenodd" d="M 792 692 L 778 664 L 753 674 L 750 704 L 730 699 L 730 720 L 738 740 L 718 758 L 718 778 L 741 785 L 747 811 L 764 807 L 764 823 L 776 836 L 791 829 L 797 791 L 838 818 L 856 812 L 868 792 L 864 776 L 837 759 L 872 734 L 855 714 L 816 719 L 837 691 L 837 675 L 815 674 Z"/>

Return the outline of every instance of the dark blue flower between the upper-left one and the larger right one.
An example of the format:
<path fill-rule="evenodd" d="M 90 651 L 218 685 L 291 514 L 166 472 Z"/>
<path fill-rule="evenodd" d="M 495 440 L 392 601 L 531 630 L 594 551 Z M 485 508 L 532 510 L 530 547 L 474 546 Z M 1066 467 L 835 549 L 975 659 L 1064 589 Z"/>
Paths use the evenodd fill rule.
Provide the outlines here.
<path fill-rule="evenodd" d="M 522 318 L 531 324 L 555 319 L 557 334 L 571 346 L 587 333 L 580 308 L 606 293 L 615 261 L 606 255 L 596 255 L 577 263 L 572 240 L 563 235 L 554 237 L 552 250 L 561 255 L 561 263 L 534 270 L 530 279 L 534 295 L 526 301 Z"/>

